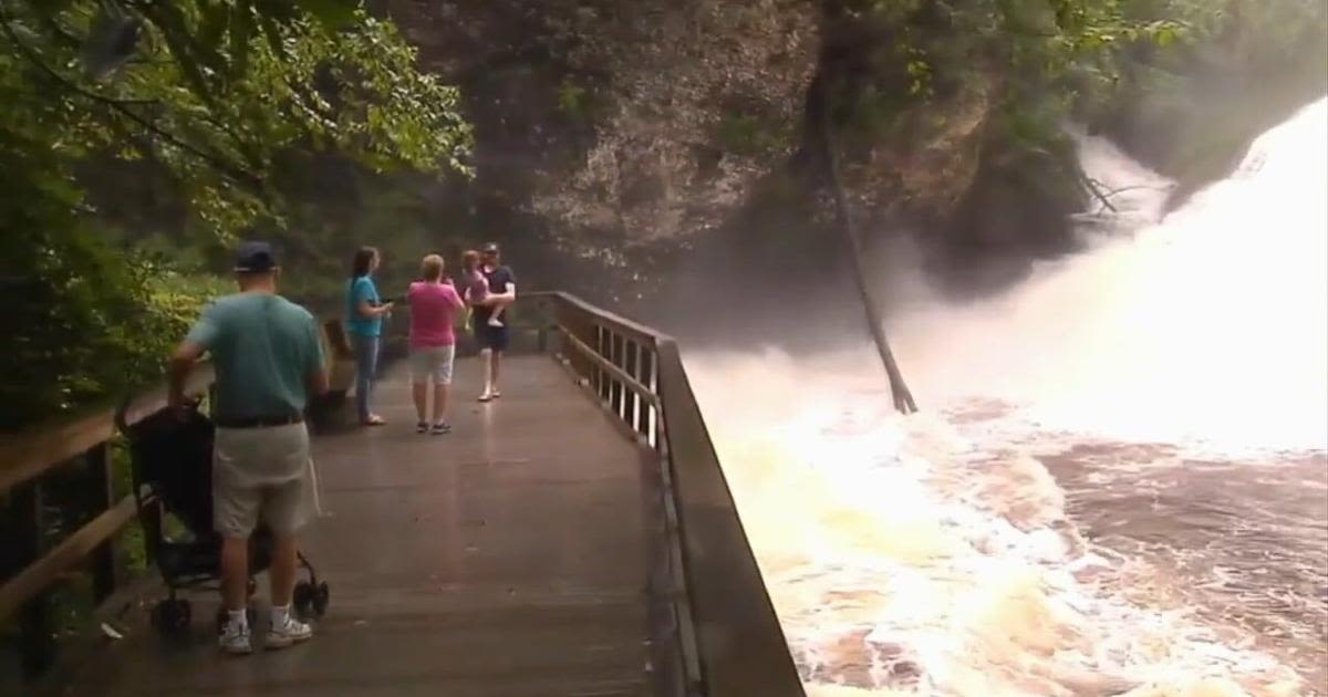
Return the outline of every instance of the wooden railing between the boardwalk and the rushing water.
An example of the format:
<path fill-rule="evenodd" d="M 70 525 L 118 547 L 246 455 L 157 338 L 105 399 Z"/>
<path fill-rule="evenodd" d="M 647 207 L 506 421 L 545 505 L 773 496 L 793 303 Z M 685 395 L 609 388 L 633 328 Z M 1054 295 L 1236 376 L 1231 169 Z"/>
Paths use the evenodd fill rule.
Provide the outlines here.
<path fill-rule="evenodd" d="M 659 454 L 657 694 L 802 696 L 802 682 L 688 382 L 677 343 L 575 296 L 525 293 L 552 350 Z"/>

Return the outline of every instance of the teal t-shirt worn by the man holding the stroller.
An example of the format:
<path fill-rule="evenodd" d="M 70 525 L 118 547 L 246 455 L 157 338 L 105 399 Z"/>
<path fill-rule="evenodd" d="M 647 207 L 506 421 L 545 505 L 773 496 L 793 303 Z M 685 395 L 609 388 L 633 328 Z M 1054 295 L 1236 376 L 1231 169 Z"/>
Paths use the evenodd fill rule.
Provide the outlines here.
<path fill-rule="evenodd" d="M 323 369 L 313 315 L 276 295 L 222 297 L 203 311 L 189 340 L 212 354 L 220 418 L 301 414 L 309 376 Z"/>

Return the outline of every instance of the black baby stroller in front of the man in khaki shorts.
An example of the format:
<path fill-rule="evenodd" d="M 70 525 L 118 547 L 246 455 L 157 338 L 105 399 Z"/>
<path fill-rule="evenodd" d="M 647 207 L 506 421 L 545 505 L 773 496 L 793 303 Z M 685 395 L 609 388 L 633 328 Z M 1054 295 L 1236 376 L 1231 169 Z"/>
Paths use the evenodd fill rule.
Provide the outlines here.
<path fill-rule="evenodd" d="M 126 406 L 117 410 L 116 427 L 129 442 L 134 502 L 147 556 L 157 564 L 170 593 L 153 607 L 151 621 L 163 636 L 181 636 L 189 631 L 193 611 L 189 600 L 177 597 L 177 592 L 220 588 L 222 538 L 212 530 L 215 427 L 197 406 L 183 414 L 161 410 L 129 426 L 125 424 Z M 163 534 L 163 512 L 171 514 L 185 528 L 178 535 L 181 539 Z M 267 570 L 271 560 L 272 532 L 260 524 L 250 536 L 251 596 L 258 588 L 254 575 Z M 321 616 L 327 612 L 328 585 L 319 581 L 303 554 L 299 563 L 307 578 L 295 585 L 295 609 L 303 616 Z M 218 608 L 218 631 L 224 619 L 224 608 Z"/>

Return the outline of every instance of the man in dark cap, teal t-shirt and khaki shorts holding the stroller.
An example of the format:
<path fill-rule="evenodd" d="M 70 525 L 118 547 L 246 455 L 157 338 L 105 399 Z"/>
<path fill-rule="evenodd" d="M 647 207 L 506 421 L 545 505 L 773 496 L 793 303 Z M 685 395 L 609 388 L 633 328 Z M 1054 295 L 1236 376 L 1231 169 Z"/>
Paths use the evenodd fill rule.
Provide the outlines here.
<path fill-rule="evenodd" d="M 227 619 L 218 641 L 230 653 L 248 653 L 248 538 L 263 522 L 274 538 L 268 575 L 272 620 L 267 648 L 313 636 L 291 613 L 296 574 L 296 531 L 313 518 L 313 470 L 304 408 L 309 394 L 327 392 L 323 344 L 308 311 L 276 295 L 271 247 L 240 246 L 235 273 L 240 292 L 208 307 L 175 349 L 170 400 L 186 405 L 190 370 L 210 353 L 216 368 L 212 418 L 212 518 L 222 536 L 222 599 Z"/>

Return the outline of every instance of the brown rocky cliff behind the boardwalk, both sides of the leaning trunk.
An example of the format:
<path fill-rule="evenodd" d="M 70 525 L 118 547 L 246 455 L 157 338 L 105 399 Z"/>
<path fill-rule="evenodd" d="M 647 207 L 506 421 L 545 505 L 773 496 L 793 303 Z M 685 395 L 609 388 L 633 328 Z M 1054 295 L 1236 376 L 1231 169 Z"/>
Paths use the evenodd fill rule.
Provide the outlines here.
<path fill-rule="evenodd" d="M 475 125 L 478 175 L 449 215 L 538 254 L 538 284 L 622 301 L 665 288 L 643 279 L 680 277 L 679 259 L 742 283 L 797 272 L 834 244 L 807 166 L 817 108 L 839 127 L 862 228 L 914 232 L 942 275 L 1001 256 L 1023 263 L 981 284 L 1017 277 L 1069 248 L 1068 216 L 1085 204 L 1072 149 L 1048 135 L 1057 112 L 1037 113 L 1056 100 L 1011 84 L 1025 49 L 1009 17 L 857 0 L 378 5 L 461 85 Z M 1058 31 L 1052 5 L 1024 20 Z M 1097 119 L 1155 151 L 1138 135 L 1149 104 Z"/>

